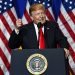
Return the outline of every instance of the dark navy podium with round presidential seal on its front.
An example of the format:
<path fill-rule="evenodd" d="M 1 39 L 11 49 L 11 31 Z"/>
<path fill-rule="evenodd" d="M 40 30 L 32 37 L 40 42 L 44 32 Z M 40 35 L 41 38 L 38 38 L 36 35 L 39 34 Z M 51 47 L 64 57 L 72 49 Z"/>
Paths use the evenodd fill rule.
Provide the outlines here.
<path fill-rule="evenodd" d="M 42 59 L 43 57 L 44 59 Z M 40 59 L 41 62 L 37 63 Z M 43 62 L 44 60 L 46 62 Z M 40 69 L 37 68 L 38 66 Z M 44 66 L 44 72 L 41 74 L 40 71 L 43 70 Z M 34 72 L 38 71 L 40 74 L 32 74 L 29 68 L 33 69 Z M 12 50 L 10 75 L 66 75 L 64 49 Z"/>

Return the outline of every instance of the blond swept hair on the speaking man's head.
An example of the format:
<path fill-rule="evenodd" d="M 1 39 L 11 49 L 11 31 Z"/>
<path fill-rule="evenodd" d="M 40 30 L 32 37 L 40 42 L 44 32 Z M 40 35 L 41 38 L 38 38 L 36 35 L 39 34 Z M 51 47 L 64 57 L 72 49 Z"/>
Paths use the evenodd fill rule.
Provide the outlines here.
<path fill-rule="evenodd" d="M 29 14 L 32 15 L 32 12 L 33 11 L 36 11 L 36 10 L 39 10 L 39 9 L 42 9 L 45 11 L 45 7 L 43 4 L 33 4 L 30 8 L 29 8 Z"/>

